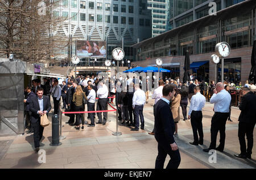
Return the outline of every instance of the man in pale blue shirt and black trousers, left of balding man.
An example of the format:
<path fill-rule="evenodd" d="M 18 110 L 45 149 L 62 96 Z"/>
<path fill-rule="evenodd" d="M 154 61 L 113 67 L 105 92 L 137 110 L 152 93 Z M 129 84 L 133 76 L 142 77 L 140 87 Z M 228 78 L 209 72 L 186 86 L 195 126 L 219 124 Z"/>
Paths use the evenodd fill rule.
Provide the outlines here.
<path fill-rule="evenodd" d="M 195 92 L 195 95 L 193 95 L 191 98 L 191 103 L 188 111 L 188 119 L 191 118 L 191 126 L 193 129 L 194 141 L 189 143 L 192 145 L 198 145 L 198 144 L 203 145 L 204 133 L 203 133 L 203 124 L 202 124 L 202 119 L 203 119 L 202 109 L 205 105 L 205 97 L 200 93 L 199 86 L 194 87 L 194 92 Z M 198 139 L 197 131 L 199 133 L 199 139 Z"/>

